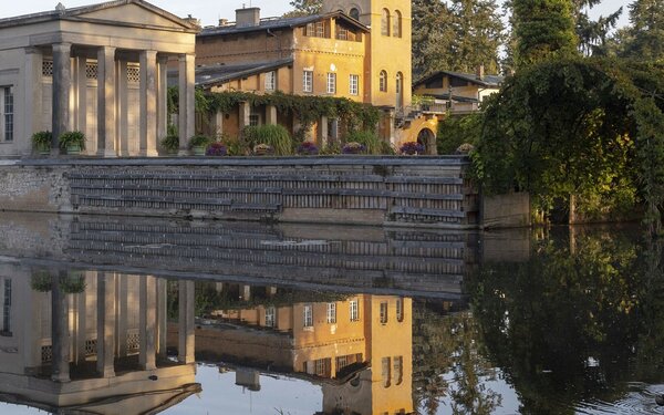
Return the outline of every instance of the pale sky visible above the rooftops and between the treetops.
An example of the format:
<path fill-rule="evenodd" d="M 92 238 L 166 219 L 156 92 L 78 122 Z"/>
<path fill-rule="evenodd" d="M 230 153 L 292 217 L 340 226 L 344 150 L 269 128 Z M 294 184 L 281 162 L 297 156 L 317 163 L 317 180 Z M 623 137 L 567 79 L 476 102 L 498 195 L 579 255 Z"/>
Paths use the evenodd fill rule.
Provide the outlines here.
<path fill-rule="evenodd" d="M 65 7 L 73 8 L 96 2 L 97 0 L 22 0 L 13 2 L 11 0 L 0 0 L 0 19 L 12 15 L 35 13 L 40 11 L 53 10 L 61 1 Z M 235 21 L 235 10 L 240 9 L 242 4 L 253 6 L 261 9 L 261 17 L 281 15 L 291 9 L 289 0 L 148 0 L 151 3 L 165 9 L 174 14 L 193 17 L 200 19 L 203 25 L 217 24 L 219 19 Z M 618 10 L 621 6 L 626 6 L 630 0 L 603 0 L 601 4 L 591 10 L 592 17 L 609 14 Z M 627 24 L 627 10 L 623 10 L 621 24 Z"/>

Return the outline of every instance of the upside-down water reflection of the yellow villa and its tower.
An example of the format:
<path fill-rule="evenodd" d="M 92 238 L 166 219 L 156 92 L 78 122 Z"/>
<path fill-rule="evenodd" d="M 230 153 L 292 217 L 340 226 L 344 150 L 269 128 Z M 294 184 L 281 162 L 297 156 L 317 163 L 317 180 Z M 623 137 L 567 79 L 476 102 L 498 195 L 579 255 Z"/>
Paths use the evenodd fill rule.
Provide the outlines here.
<path fill-rule="evenodd" d="M 201 356 L 318 382 L 324 413 L 413 411 L 411 299 L 371 294 L 287 299 L 276 288 L 217 283 L 216 289 L 226 291 L 226 299 L 239 300 L 212 311 L 208 324 L 197 329 L 196 351 Z"/>

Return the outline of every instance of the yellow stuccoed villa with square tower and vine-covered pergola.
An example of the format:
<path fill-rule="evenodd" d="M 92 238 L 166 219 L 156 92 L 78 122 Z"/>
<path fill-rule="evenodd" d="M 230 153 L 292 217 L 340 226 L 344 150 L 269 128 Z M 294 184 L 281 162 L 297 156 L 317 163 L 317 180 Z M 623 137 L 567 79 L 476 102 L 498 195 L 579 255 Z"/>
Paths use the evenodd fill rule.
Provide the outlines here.
<path fill-rule="evenodd" d="M 411 107 L 412 18 L 408 0 L 325 0 L 321 14 L 261 19 L 260 9 L 236 11 L 197 37 L 197 85 L 212 92 L 344 97 L 382 110 L 378 135 L 394 147 L 419 139 L 435 154 L 437 117 Z M 248 125 L 301 128 L 274 106 L 241 103 L 216 114 L 206 133 L 237 135 Z M 322 117 L 305 137 L 324 145 L 344 134 Z"/>

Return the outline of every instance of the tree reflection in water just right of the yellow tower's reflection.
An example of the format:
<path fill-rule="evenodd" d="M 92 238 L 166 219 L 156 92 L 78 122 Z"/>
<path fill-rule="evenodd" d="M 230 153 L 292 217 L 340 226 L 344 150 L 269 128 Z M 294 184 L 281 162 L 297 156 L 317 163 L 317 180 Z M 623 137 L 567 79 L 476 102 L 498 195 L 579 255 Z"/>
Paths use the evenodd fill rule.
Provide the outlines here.
<path fill-rule="evenodd" d="M 436 414 L 440 400 L 447 397 L 453 414 L 491 414 L 500 405 L 500 396 L 483 384 L 495 376 L 495 371 L 484 359 L 473 315 L 445 315 L 416 303 L 413 318 L 415 406 L 425 414 Z"/>

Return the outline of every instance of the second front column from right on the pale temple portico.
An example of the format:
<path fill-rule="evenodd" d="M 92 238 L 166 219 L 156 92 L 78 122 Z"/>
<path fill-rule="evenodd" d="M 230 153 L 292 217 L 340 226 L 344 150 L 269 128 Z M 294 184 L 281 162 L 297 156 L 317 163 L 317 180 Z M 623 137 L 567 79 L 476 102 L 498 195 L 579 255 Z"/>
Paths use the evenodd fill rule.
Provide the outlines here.
<path fill-rule="evenodd" d="M 157 52 L 142 51 L 139 154 L 157 156 Z"/>

